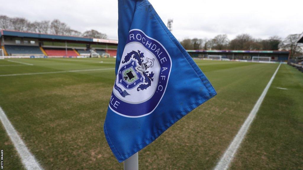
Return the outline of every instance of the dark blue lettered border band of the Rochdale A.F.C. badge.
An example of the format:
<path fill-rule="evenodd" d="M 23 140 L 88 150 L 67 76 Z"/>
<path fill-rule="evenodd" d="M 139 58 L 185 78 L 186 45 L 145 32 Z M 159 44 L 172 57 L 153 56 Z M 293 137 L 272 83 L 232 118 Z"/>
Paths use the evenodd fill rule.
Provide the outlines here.
<path fill-rule="evenodd" d="M 151 98 L 147 101 L 138 104 L 127 103 L 120 100 L 117 96 L 115 96 L 115 93 L 112 92 L 109 101 L 110 109 L 121 116 L 135 118 L 147 116 L 148 114 L 152 113 L 160 103 L 165 93 L 171 72 L 171 57 L 160 42 L 148 37 L 143 31 L 139 29 L 132 29 L 129 31 L 126 44 L 131 42 L 138 42 L 145 46 L 146 49 L 155 55 L 155 58 L 160 64 L 160 72 L 158 76 L 156 91 L 154 95 L 151 96 Z M 155 44 L 156 48 L 153 49 L 153 45 L 151 44 Z"/>

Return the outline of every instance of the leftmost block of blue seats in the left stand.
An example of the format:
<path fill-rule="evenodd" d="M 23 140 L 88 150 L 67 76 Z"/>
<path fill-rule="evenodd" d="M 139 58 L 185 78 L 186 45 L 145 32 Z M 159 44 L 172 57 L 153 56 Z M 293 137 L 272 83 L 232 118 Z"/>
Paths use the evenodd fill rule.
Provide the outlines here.
<path fill-rule="evenodd" d="M 8 55 L 44 55 L 37 46 L 5 45 L 4 47 Z"/>

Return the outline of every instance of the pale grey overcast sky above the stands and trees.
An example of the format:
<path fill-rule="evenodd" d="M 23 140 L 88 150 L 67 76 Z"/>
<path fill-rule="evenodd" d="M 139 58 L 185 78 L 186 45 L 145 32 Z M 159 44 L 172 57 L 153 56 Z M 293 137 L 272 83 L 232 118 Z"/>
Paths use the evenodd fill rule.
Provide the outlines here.
<path fill-rule="evenodd" d="M 149 0 L 160 18 L 174 20 L 172 33 L 184 38 L 229 39 L 247 33 L 255 38 L 300 34 L 303 0 Z M 59 19 L 72 29 L 95 29 L 118 39 L 117 0 L 0 0 L 0 15 L 30 21 Z"/>

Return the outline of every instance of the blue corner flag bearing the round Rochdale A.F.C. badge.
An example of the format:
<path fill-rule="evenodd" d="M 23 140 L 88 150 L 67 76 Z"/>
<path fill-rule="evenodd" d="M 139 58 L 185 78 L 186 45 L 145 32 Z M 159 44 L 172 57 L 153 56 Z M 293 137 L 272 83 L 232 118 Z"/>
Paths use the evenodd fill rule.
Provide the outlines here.
<path fill-rule="evenodd" d="M 104 133 L 123 162 L 216 92 L 147 0 L 118 0 L 118 17 Z"/>

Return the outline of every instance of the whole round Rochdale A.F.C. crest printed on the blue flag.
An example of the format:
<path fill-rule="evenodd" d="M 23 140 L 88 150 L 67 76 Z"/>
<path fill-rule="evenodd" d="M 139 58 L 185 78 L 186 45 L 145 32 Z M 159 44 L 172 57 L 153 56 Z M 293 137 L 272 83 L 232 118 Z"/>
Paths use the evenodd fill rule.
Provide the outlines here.
<path fill-rule="evenodd" d="M 109 107 L 125 117 L 152 113 L 165 93 L 170 71 L 171 58 L 163 45 L 141 30 L 131 30 Z"/>

